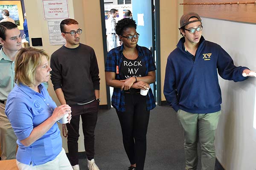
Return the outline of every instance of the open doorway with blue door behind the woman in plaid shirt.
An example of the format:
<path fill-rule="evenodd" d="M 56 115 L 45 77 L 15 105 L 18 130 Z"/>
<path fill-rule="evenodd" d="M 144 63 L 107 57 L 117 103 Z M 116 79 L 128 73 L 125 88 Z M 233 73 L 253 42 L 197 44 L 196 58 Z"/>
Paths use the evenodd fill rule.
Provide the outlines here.
<path fill-rule="evenodd" d="M 146 2 L 145 2 L 146 1 Z M 151 50 L 152 56 L 157 67 L 156 82 L 151 84 L 155 101 L 161 105 L 161 81 L 160 81 L 160 22 L 159 22 L 159 0 L 100 0 L 102 35 L 106 35 L 106 20 L 109 17 L 109 10 L 115 8 L 118 15 L 116 23 L 125 17 L 128 9 L 132 13 L 133 19 L 137 24 L 137 32 L 140 33 L 138 45 L 145 46 Z M 119 41 L 118 41 L 119 44 Z M 108 54 L 107 36 L 103 36 L 104 59 Z M 108 109 L 111 108 L 112 92 L 107 86 Z"/>

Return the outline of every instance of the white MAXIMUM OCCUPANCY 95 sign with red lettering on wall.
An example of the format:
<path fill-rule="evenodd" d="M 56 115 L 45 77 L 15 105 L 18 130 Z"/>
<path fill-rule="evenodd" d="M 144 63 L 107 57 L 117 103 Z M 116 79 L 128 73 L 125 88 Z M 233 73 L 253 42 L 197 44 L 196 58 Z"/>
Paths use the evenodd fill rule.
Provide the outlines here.
<path fill-rule="evenodd" d="M 45 20 L 69 18 L 67 0 L 42 0 Z"/>

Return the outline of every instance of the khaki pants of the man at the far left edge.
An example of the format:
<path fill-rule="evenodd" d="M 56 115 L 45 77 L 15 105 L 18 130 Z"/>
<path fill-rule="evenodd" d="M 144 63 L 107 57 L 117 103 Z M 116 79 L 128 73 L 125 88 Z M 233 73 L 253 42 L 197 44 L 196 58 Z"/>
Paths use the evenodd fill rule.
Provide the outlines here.
<path fill-rule="evenodd" d="M 16 159 L 17 137 L 5 114 L 5 105 L 0 103 L 0 143 L 2 160 Z"/>

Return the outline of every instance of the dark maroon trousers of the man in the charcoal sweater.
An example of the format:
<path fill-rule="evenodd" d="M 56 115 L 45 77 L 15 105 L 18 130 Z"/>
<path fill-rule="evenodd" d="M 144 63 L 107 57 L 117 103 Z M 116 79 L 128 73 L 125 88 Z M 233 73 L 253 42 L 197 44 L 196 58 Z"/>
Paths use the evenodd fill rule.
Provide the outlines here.
<path fill-rule="evenodd" d="M 94 157 L 94 129 L 98 118 L 99 102 L 94 100 L 85 105 L 70 105 L 72 119 L 67 123 L 67 148 L 72 166 L 78 164 L 78 138 L 80 115 L 84 133 L 84 148 L 87 159 Z"/>

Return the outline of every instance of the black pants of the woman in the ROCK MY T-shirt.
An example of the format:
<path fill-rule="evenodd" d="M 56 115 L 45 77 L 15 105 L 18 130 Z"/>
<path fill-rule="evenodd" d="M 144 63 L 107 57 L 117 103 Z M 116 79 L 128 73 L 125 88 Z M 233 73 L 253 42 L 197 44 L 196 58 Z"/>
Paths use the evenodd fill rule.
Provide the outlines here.
<path fill-rule="evenodd" d="M 136 170 L 143 170 L 147 150 L 149 111 L 146 98 L 140 94 L 125 94 L 125 112 L 116 111 L 121 127 L 125 152 Z"/>

